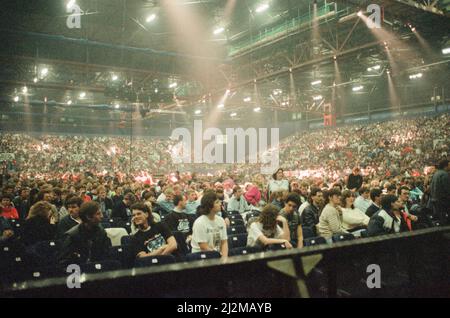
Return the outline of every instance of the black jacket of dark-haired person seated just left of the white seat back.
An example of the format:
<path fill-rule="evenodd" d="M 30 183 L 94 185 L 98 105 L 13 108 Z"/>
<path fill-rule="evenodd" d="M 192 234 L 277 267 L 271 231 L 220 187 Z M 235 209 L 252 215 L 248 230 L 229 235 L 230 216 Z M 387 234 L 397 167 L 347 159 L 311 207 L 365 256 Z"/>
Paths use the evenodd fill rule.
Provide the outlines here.
<path fill-rule="evenodd" d="M 104 229 L 97 226 L 88 230 L 79 224 L 66 232 L 58 262 L 65 265 L 107 260 L 110 247 L 111 240 Z"/>

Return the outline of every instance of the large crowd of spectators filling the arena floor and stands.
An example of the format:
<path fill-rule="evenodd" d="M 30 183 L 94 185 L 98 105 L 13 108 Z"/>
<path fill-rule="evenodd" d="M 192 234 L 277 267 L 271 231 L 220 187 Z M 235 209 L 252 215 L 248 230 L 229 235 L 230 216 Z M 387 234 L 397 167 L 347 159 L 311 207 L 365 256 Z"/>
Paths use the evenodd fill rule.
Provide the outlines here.
<path fill-rule="evenodd" d="M 4 169 L 0 240 L 32 266 L 48 261 L 35 247 L 49 241 L 60 244 L 52 266 L 110 259 L 125 244 L 128 266 L 140 266 L 445 225 L 449 139 L 449 114 L 302 132 L 280 144 L 284 169 L 265 176 L 250 165 L 180 173 L 171 141 L 2 134 L 15 162 Z"/>

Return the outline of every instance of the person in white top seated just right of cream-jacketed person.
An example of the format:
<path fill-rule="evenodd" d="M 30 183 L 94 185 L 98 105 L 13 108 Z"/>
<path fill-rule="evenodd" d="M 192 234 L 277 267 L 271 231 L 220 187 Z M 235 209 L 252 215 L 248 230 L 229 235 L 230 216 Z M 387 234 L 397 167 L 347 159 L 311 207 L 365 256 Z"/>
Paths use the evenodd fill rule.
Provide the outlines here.
<path fill-rule="evenodd" d="M 367 228 L 370 218 L 354 206 L 355 194 L 350 190 L 342 192 L 342 227 L 349 231 Z"/>

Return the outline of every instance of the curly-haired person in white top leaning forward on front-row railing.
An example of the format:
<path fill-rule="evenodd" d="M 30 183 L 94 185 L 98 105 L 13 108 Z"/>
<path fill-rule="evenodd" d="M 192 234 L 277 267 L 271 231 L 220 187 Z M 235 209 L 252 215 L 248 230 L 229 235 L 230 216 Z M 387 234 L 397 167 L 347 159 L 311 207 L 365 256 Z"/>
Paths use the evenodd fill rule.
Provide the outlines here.
<path fill-rule="evenodd" d="M 283 228 L 278 224 L 281 222 Z M 267 247 L 273 244 L 285 244 L 292 248 L 289 242 L 289 225 L 285 218 L 278 214 L 278 209 L 272 204 L 266 205 L 259 217 L 250 224 L 247 246 Z"/>

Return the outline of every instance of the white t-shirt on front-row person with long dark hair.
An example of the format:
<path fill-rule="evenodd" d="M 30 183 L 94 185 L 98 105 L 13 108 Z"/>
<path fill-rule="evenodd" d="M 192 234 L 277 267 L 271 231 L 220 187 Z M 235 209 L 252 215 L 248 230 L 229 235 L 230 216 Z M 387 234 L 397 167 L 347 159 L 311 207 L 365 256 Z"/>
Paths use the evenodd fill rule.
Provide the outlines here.
<path fill-rule="evenodd" d="M 220 252 L 221 241 L 226 239 L 227 227 L 223 218 L 216 215 L 211 221 L 206 215 L 202 215 L 192 227 L 192 253 L 201 252 L 199 243 L 208 243 L 210 248 Z"/>

